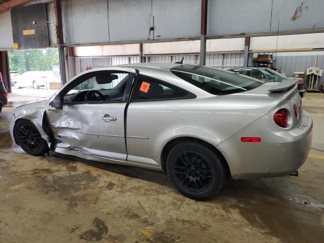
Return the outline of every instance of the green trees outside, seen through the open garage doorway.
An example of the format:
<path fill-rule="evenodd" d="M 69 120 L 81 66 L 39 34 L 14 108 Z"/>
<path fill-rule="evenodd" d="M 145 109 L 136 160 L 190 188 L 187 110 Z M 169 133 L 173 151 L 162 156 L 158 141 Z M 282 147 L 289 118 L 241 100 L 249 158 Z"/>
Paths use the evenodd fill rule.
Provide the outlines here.
<path fill-rule="evenodd" d="M 26 71 L 49 71 L 59 65 L 57 49 L 8 51 L 10 70 L 22 74 Z"/>

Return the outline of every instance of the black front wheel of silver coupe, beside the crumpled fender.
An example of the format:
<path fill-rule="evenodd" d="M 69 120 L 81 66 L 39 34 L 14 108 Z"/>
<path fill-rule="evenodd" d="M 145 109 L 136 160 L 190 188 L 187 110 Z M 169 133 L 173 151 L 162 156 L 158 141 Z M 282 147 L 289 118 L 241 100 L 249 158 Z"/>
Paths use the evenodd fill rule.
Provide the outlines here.
<path fill-rule="evenodd" d="M 30 155 L 44 155 L 49 151 L 47 142 L 29 120 L 18 120 L 15 125 L 14 135 L 17 144 Z"/>

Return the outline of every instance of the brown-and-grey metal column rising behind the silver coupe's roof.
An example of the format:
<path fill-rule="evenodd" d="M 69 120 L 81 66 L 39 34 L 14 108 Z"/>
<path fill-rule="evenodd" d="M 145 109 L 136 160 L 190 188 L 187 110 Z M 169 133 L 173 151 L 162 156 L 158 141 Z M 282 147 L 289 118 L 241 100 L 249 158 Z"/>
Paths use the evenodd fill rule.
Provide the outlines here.
<path fill-rule="evenodd" d="M 200 65 L 206 65 L 207 9 L 208 9 L 208 0 L 201 0 L 200 63 L 199 63 Z"/>

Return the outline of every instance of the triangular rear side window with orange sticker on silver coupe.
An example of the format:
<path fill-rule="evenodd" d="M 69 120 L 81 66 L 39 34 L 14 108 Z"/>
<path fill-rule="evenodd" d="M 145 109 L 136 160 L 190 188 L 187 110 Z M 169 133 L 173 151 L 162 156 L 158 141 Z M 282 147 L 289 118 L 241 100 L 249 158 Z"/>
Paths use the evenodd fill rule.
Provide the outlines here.
<path fill-rule="evenodd" d="M 140 75 L 133 101 L 158 101 L 194 98 L 191 93 L 152 77 Z"/>

